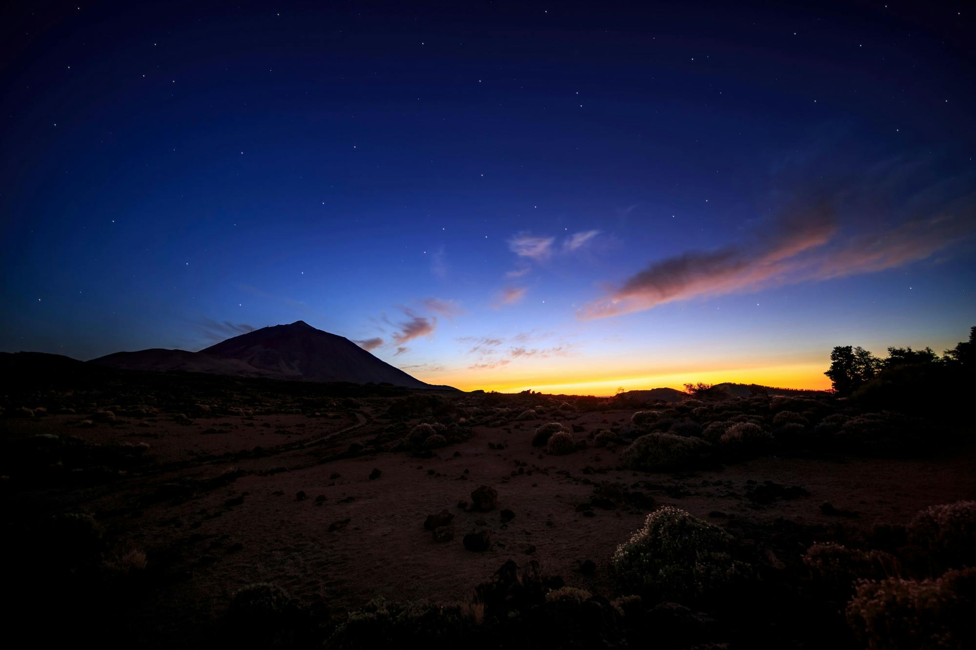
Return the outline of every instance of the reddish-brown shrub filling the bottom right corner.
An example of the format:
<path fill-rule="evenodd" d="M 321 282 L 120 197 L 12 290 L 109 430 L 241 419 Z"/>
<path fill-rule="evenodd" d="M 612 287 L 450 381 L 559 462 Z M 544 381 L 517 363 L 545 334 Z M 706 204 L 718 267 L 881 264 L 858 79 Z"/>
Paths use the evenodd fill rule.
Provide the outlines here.
<path fill-rule="evenodd" d="M 847 604 L 847 623 L 868 650 L 943 650 L 976 644 L 976 568 L 937 580 L 862 582 Z"/>

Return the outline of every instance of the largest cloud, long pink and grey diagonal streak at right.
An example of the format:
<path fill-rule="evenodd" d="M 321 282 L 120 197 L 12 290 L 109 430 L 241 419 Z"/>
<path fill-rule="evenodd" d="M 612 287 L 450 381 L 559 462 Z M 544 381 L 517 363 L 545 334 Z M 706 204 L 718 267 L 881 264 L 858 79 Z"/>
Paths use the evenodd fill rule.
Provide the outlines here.
<path fill-rule="evenodd" d="M 578 316 L 605 318 L 674 301 L 895 268 L 924 260 L 970 231 L 971 220 L 940 216 L 839 237 L 833 211 L 817 207 L 781 220 L 750 242 L 652 263 L 608 296 L 584 305 Z"/>

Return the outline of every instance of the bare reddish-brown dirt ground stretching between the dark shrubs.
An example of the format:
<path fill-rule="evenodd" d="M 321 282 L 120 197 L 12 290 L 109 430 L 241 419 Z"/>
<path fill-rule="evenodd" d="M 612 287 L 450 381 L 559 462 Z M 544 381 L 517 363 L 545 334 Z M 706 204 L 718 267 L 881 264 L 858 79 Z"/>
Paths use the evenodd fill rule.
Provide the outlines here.
<path fill-rule="evenodd" d="M 611 554 L 657 506 L 683 508 L 718 525 L 785 518 L 826 531 L 904 523 L 920 508 L 976 498 L 973 447 L 920 459 L 772 456 L 709 470 L 648 473 L 623 469 L 622 448 L 550 456 L 531 444 L 540 424 L 575 426 L 577 437 L 584 437 L 629 423 L 633 411 L 472 427 L 468 439 L 428 458 L 348 451 L 390 427 L 386 405 L 377 399 L 312 417 L 222 415 L 186 424 L 165 412 L 83 427 L 85 416 L 76 414 L 6 419 L 6 438 L 54 434 L 100 445 L 149 445 L 139 467 L 111 482 L 35 485 L 8 492 L 8 504 L 22 511 L 89 512 L 116 548 L 143 550 L 147 566 L 155 564 L 167 580 L 135 609 L 132 622 L 146 630 L 140 644 L 173 646 L 217 620 L 232 594 L 251 583 L 274 583 L 336 614 L 376 596 L 463 599 L 508 558 L 520 563 L 531 557 L 569 586 L 609 595 Z M 371 477 L 374 469 L 379 477 Z M 5 478 L 9 485 L 18 480 L 16 471 Z M 808 495 L 755 499 L 756 486 L 765 481 L 799 486 Z M 639 506 L 579 508 L 605 483 L 646 499 Z M 189 484 L 195 487 L 177 489 Z M 497 508 L 459 508 L 481 485 L 497 490 Z M 824 502 L 837 509 L 825 513 Z M 503 522 L 506 508 L 514 517 Z M 454 514 L 455 535 L 438 543 L 424 521 L 442 509 Z M 485 528 L 491 548 L 466 549 L 465 534 Z M 795 548 L 797 556 L 803 551 Z M 595 563 L 595 572 L 581 571 L 585 560 Z"/>

